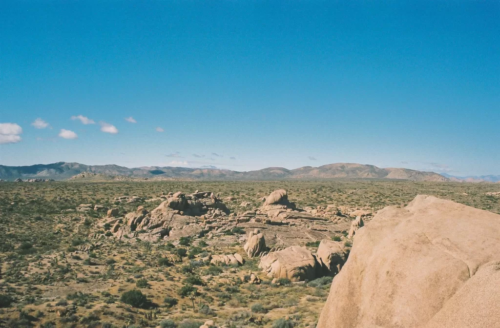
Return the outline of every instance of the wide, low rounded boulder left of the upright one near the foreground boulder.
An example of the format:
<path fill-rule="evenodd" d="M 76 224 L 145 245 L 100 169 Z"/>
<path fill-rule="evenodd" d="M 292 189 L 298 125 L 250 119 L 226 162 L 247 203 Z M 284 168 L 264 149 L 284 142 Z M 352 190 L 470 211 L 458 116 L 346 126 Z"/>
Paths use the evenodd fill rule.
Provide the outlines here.
<path fill-rule="evenodd" d="M 316 259 L 310 250 L 300 246 L 269 252 L 261 257 L 258 267 L 267 272 L 268 277 L 288 278 L 290 281 L 316 277 Z"/>

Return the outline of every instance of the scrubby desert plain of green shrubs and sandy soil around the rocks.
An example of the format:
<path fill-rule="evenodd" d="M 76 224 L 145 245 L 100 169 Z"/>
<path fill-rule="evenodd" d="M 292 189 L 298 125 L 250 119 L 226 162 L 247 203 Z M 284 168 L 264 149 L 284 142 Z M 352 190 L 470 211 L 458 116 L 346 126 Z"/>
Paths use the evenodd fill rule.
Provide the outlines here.
<path fill-rule="evenodd" d="M 131 212 L 151 210 L 161 192 L 215 190 L 231 212 L 261 204 L 277 188 L 297 206 L 343 205 L 376 211 L 404 206 L 417 194 L 431 194 L 500 213 L 491 183 L 379 180 L 266 182 L 42 182 L 0 183 L 0 326 L 5 327 L 177 327 L 198 328 L 208 319 L 226 327 L 313 327 L 332 277 L 304 283 L 271 283 L 258 258 L 236 265 L 199 259 L 245 254 L 249 231 L 237 226 L 218 237 L 203 234 L 158 241 L 112 237 L 100 224 L 104 213 L 78 212 L 79 204 L 101 204 Z M 133 203 L 115 197 L 136 195 Z M 242 202 L 249 206 L 240 205 Z M 252 207 L 253 206 L 253 207 Z M 331 240 L 350 245 L 345 228 Z M 269 241 L 269 247 L 272 247 Z M 302 242 L 310 249 L 319 240 Z M 249 282 L 256 274 L 260 284 Z"/>

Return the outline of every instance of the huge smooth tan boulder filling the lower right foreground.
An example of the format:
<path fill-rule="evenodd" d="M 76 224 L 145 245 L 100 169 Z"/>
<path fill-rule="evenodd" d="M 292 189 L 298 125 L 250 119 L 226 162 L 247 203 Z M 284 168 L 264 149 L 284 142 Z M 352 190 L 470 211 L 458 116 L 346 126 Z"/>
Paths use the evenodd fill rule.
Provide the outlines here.
<path fill-rule="evenodd" d="M 500 327 L 500 215 L 418 195 L 356 231 L 318 328 Z"/>

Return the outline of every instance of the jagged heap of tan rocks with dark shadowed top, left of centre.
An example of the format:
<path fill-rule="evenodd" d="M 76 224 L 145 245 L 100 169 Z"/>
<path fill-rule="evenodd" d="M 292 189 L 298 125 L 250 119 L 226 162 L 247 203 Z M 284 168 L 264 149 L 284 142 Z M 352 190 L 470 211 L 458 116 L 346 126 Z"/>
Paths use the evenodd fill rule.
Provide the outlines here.
<path fill-rule="evenodd" d="M 160 195 L 164 199 L 152 211 L 138 206 L 134 212 L 127 213 L 124 218 L 106 221 L 110 231 L 117 238 L 139 238 L 157 240 L 165 236 L 190 236 L 209 233 L 219 229 L 213 222 L 228 218 L 229 209 L 213 192 L 197 191 L 184 194 L 181 191 Z M 115 201 L 133 202 L 132 197 L 117 197 Z M 113 217 L 118 215 L 109 215 Z M 223 221 L 223 220 L 222 220 Z"/>

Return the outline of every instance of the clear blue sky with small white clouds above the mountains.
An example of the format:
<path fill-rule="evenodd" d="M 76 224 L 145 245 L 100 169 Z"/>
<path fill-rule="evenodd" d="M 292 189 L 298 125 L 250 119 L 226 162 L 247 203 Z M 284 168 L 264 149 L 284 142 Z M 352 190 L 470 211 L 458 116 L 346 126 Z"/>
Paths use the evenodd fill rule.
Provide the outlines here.
<path fill-rule="evenodd" d="M 498 1 L 8 1 L 0 163 L 500 174 L 499 31 Z"/>

